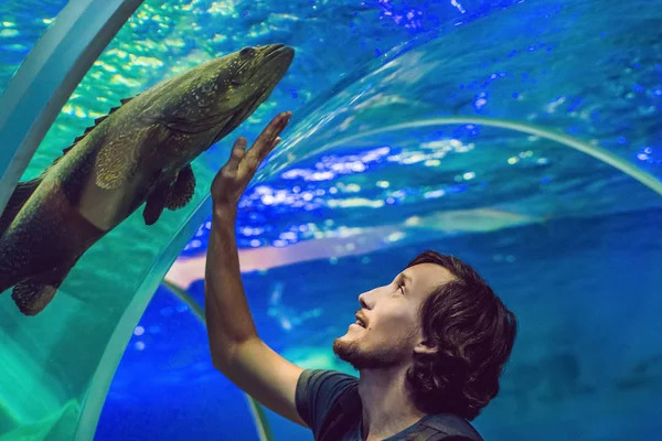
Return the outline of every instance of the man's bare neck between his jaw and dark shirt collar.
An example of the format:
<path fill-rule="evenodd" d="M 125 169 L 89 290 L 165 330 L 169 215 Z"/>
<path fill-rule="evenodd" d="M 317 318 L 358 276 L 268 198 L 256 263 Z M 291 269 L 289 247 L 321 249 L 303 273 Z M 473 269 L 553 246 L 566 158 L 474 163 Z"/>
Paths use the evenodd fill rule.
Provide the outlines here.
<path fill-rule="evenodd" d="M 363 406 L 363 440 L 386 439 L 425 417 L 410 399 L 405 374 L 406 367 L 361 372 L 359 395 Z"/>

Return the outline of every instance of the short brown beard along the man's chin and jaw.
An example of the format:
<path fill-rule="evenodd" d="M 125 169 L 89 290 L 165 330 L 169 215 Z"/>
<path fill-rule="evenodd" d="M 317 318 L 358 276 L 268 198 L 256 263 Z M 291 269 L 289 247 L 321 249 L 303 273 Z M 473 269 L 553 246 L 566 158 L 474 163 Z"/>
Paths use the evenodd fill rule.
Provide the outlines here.
<path fill-rule="evenodd" d="M 342 338 L 335 338 L 333 342 L 333 353 L 356 370 L 385 369 L 397 366 L 406 356 L 403 344 L 365 351 L 360 347 L 359 342 L 345 342 Z"/>

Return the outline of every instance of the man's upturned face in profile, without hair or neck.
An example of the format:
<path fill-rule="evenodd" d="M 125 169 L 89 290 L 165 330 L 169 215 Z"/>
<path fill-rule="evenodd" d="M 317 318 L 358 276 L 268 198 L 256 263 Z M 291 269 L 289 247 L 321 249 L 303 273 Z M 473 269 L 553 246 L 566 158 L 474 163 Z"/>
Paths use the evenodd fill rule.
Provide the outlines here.
<path fill-rule="evenodd" d="M 423 341 L 419 309 L 439 286 L 453 280 L 446 268 L 420 263 L 407 268 L 387 286 L 359 295 L 362 324 L 333 342 L 333 352 L 355 369 L 408 365 Z"/>

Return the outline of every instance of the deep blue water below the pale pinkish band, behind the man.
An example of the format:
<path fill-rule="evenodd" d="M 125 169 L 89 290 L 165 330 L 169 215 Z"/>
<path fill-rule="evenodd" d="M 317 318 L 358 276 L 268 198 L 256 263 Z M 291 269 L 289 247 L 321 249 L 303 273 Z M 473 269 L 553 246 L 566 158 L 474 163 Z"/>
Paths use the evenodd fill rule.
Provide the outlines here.
<path fill-rule="evenodd" d="M 502 391 L 476 420 L 487 439 L 654 439 L 662 428 L 661 222 L 660 209 L 555 220 L 253 272 L 244 282 L 267 343 L 295 359 L 327 357 L 323 364 L 359 293 L 387 282 L 423 248 L 462 256 L 521 323 Z M 274 306 L 276 290 L 282 295 Z M 190 292 L 202 301 L 202 281 Z M 284 316 L 297 324 L 284 329 Z M 245 399 L 214 372 L 205 331 L 186 308 L 161 290 L 139 326 L 145 333 L 129 342 L 96 439 L 257 439 Z M 312 439 L 279 417 L 270 422 L 277 439 Z"/>

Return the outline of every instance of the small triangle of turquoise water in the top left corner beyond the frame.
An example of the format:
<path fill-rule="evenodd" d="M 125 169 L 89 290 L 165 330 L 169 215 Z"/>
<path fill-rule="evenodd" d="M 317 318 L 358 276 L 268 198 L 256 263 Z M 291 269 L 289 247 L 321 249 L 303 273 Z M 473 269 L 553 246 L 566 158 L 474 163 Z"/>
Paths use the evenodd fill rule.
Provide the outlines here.
<path fill-rule="evenodd" d="M 0 4 L 0 95 L 65 4 L 65 0 L 11 0 Z"/>

